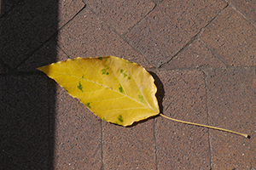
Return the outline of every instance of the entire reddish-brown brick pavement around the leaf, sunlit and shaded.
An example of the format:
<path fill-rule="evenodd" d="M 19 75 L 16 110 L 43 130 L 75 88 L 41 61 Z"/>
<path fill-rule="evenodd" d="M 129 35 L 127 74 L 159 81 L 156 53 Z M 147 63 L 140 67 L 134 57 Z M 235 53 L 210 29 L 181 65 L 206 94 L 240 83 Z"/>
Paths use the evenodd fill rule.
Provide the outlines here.
<path fill-rule="evenodd" d="M 0 169 L 256 169 L 256 3 L 0 1 Z M 35 68 L 114 55 L 155 78 L 160 116 L 103 122 Z"/>

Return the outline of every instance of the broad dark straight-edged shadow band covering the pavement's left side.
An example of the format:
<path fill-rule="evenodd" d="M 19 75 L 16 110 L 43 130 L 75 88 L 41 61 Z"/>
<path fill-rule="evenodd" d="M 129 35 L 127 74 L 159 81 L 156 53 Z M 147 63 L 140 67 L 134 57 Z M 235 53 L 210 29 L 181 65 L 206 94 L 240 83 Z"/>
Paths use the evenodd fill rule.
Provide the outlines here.
<path fill-rule="evenodd" d="M 0 169 L 52 169 L 55 84 L 35 68 L 56 60 L 58 1 L 0 6 Z"/>

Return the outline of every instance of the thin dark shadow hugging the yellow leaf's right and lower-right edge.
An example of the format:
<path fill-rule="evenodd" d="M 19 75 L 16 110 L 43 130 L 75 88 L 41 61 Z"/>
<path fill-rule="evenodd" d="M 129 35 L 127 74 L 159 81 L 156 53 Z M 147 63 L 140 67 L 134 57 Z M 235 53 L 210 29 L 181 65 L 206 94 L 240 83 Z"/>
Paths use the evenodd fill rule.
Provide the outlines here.
<path fill-rule="evenodd" d="M 160 113 L 163 113 L 163 99 L 164 99 L 164 96 L 165 96 L 165 89 L 164 89 L 164 85 L 163 83 L 160 81 L 160 78 L 152 71 L 148 71 L 149 74 L 154 77 L 154 84 L 157 88 L 157 92 L 155 94 L 155 97 L 158 101 L 158 105 L 159 105 L 159 109 L 160 109 Z M 137 124 L 139 123 L 143 123 L 143 122 L 147 122 L 148 120 L 152 120 L 154 119 L 155 117 L 158 117 L 160 115 L 156 115 L 156 116 L 150 116 L 148 117 L 147 119 L 144 119 L 142 121 L 138 121 L 138 122 L 134 122 L 131 126 L 128 126 L 128 127 L 134 127 L 134 126 L 137 126 Z"/>

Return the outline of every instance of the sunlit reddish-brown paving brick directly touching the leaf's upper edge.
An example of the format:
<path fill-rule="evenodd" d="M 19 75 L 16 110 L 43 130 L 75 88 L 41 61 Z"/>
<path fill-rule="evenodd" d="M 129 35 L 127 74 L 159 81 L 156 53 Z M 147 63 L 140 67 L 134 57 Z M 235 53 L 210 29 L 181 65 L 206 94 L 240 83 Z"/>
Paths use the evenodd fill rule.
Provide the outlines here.
<path fill-rule="evenodd" d="M 59 33 L 59 45 L 71 58 L 113 55 L 150 67 L 142 55 L 134 51 L 121 37 L 88 8 L 84 8 Z"/>

